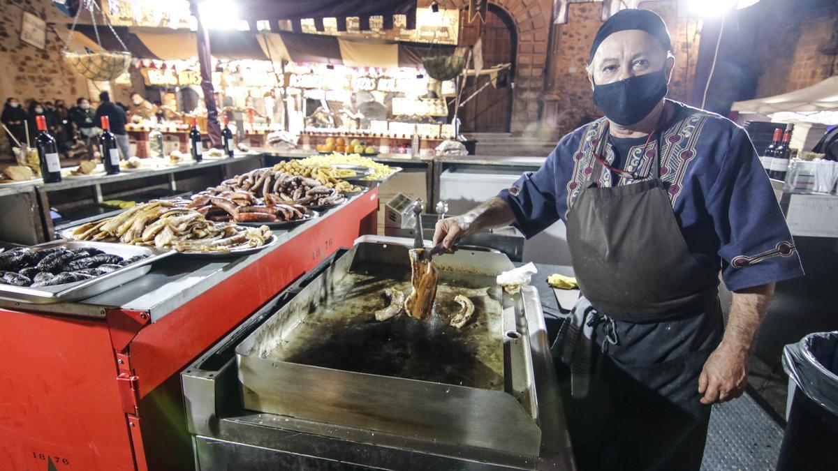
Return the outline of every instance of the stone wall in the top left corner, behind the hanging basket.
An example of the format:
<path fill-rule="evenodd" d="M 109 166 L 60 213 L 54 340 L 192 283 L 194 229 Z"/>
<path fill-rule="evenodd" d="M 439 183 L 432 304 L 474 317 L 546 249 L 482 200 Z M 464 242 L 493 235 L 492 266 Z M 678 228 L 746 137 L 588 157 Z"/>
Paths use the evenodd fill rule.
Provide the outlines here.
<path fill-rule="evenodd" d="M 78 96 L 87 96 L 86 80 L 65 65 L 61 56 L 66 28 L 47 26 L 46 48 L 35 48 L 20 40 L 23 8 L 39 18 L 54 18 L 49 0 L 4 2 L 0 8 L 0 99 L 15 96 L 21 102 L 64 99 L 70 103 Z M 66 17 L 65 17 L 66 18 Z M 67 18 L 69 19 L 69 18 Z M 57 33 L 56 33 L 57 32 Z M 3 139 L 5 141 L 5 139 Z"/>

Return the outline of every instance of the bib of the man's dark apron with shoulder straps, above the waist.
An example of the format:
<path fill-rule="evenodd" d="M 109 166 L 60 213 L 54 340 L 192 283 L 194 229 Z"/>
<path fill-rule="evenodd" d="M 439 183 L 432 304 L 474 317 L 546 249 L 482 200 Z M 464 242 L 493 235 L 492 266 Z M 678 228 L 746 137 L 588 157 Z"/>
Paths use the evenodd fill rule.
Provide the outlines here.
<path fill-rule="evenodd" d="M 608 124 L 597 143 L 603 155 Z M 651 178 L 617 187 L 592 172 L 567 215 L 567 243 L 585 297 L 600 313 L 649 322 L 701 311 L 716 298 L 718 270 L 700 267 L 681 235 L 660 180 L 660 139 Z"/>

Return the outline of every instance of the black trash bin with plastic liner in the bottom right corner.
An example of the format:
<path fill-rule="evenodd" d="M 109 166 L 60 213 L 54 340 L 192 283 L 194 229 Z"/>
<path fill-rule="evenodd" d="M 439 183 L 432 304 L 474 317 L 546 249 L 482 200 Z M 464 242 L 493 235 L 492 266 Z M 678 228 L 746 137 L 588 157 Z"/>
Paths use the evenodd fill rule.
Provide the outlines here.
<path fill-rule="evenodd" d="M 783 349 L 794 395 L 778 471 L 835 469 L 838 462 L 838 331 L 806 335 Z"/>

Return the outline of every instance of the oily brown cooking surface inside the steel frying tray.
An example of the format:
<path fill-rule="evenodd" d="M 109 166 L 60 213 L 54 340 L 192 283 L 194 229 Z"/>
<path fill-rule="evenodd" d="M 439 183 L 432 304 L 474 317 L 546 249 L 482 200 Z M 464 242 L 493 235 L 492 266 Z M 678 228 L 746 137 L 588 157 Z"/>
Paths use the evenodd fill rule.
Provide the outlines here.
<path fill-rule="evenodd" d="M 409 273 L 399 270 L 349 272 L 328 300 L 311 306 L 302 323 L 266 358 L 334 370 L 412 380 L 504 389 L 503 313 L 494 277 L 440 272 L 432 318 L 401 313 L 384 322 L 375 310 L 385 307 L 385 287 L 411 292 Z M 463 294 L 474 313 L 463 329 L 448 325 Z"/>

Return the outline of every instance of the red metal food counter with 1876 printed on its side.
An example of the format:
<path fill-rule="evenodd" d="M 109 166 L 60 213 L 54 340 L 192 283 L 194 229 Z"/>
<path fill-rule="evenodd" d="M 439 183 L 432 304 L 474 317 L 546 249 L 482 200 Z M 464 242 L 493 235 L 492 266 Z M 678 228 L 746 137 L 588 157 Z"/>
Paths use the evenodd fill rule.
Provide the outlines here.
<path fill-rule="evenodd" d="M 370 189 L 249 256 L 169 256 L 79 302 L 0 301 L 0 468 L 193 468 L 178 373 L 374 231 L 377 208 Z"/>

